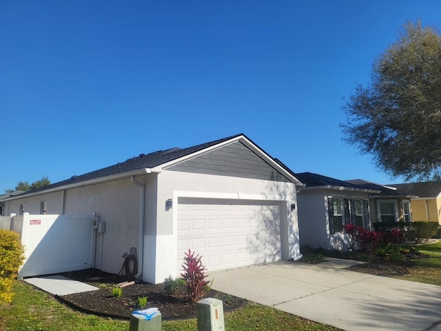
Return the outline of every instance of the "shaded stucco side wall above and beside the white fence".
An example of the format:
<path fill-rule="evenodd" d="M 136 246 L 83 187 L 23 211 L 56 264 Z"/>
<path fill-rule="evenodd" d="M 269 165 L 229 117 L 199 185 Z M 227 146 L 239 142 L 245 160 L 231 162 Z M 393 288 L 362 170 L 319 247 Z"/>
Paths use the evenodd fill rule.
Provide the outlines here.
<path fill-rule="evenodd" d="M 145 181 L 145 176 L 136 179 Z M 106 272 L 119 272 L 124 261 L 123 254 L 129 253 L 132 247 L 141 249 L 140 190 L 130 178 L 66 190 L 65 214 L 91 216 L 96 212 L 101 221 L 106 222 L 105 233 L 96 238 L 96 268 Z M 39 214 L 41 201 L 47 201 L 47 214 L 62 214 L 63 195 L 63 190 L 59 190 L 14 199 L 8 201 L 8 205 L 10 212 L 19 214 L 19 206 L 24 203 L 25 212 Z M 156 223 L 151 218 L 150 222 Z"/>

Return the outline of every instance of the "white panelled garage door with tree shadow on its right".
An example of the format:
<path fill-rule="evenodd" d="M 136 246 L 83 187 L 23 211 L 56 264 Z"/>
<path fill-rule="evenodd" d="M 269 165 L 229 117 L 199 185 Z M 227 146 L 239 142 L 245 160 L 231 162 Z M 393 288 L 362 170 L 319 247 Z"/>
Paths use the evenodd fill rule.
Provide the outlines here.
<path fill-rule="evenodd" d="M 214 271 L 282 259 L 279 205 L 265 201 L 178 201 L 178 270 L 188 249 Z"/>

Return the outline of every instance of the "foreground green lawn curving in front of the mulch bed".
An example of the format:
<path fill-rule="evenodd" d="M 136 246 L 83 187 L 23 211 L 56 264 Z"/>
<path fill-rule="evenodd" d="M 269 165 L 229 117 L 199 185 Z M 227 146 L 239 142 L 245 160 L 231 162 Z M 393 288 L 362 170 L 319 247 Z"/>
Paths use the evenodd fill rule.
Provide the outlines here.
<path fill-rule="evenodd" d="M 0 305 L 0 331 L 127 331 L 128 321 L 75 312 L 45 292 L 17 281 L 11 305 Z M 163 322 L 163 330 L 196 331 L 196 320 Z M 263 305 L 249 303 L 225 314 L 225 330 L 339 330 Z"/>

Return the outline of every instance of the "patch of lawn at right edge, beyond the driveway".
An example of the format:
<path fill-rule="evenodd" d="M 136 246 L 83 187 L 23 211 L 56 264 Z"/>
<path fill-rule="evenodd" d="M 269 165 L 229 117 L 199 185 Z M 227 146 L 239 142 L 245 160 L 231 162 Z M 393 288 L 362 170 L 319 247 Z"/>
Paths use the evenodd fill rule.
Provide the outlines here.
<path fill-rule="evenodd" d="M 441 241 L 414 247 L 429 257 L 427 259 L 413 260 L 416 266 L 407 268 L 409 274 L 399 278 L 441 286 Z"/>

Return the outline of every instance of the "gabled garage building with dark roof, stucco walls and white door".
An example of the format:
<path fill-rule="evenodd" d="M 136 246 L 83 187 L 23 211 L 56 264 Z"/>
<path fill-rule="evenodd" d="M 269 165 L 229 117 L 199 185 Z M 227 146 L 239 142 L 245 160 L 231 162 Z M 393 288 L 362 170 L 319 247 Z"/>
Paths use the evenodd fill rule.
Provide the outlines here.
<path fill-rule="evenodd" d="M 178 276 L 189 248 L 209 271 L 299 259 L 301 185 L 238 134 L 140 154 L 2 201 L 8 215 L 99 215 L 92 266 L 116 273 L 123 253 L 134 247 L 139 276 L 161 283 Z M 91 237 L 92 231 L 91 224 Z"/>

